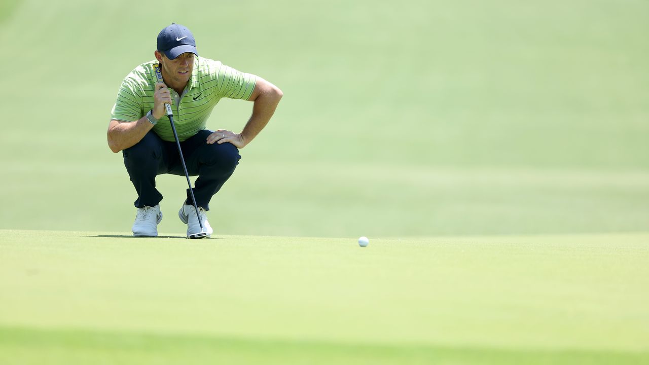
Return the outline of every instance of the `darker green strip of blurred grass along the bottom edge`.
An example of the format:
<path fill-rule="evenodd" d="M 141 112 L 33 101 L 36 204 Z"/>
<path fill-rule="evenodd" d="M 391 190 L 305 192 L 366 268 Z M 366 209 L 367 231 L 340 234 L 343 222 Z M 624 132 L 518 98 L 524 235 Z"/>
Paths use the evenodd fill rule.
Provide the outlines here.
<path fill-rule="evenodd" d="M 199 327 L 200 328 L 200 327 Z M 156 334 L 77 329 L 31 329 L 0 326 L 0 362 L 15 363 L 19 354 L 34 364 L 67 364 L 71 358 L 95 364 L 152 364 L 160 357 L 198 356 L 186 364 L 502 364 L 502 365 L 635 365 L 647 364 L 646 351 L 583 349 L 498 349 L 417 344 L 356 344 L 235 338 L 208 334 Z M 29 354 L 29 355 L 24 355 Z M 27 357 L 29 356 L 29 357 Z M 308 359 L 308 362 L 302 361 Z"/>

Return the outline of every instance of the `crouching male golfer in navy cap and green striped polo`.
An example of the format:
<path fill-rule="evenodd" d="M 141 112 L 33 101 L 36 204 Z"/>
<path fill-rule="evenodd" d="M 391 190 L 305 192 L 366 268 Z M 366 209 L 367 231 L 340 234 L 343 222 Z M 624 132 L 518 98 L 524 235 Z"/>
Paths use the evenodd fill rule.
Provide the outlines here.
<path fill-rule="evenodd" d="M 230 178 L 239 163 L 239 149 L 249 144 L 273 116 L 282 91 L 261 77 L 243 73 L 219 61 L 199 57 L 194 36 L 172 23 L 158 34 L 156 60 L 141 64 L 122 81 L 108 125 L 108 146 L 122 151 L 138 199 L 134 236 L 157 236 L 162 220 L 162 194 L 156 176 L 184 176 L 178 148 L 165 112 L 171 105 L 178 139 L 190 176 L 198 176 L 193 194 L 182 203 L 178 216 L 187 223 L 187 235 L 213 233 L 206 218 L 210 199 Z M 153 71 L 160 64 L 162 79 Z M 254 102 L 252 116 L 240 133 L 206 129 L 212 109 L 223 97 Z"/>

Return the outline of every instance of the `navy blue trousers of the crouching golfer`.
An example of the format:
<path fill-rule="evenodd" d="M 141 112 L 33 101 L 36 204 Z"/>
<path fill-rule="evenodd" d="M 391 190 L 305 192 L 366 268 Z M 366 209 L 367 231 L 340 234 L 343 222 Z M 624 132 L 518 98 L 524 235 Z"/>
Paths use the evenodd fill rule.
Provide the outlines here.
<path fill-rule="evenodd" d="M 211 133 L 204 129 L 180 142 L 187 171 L 190 176 L 198 176 L 193 185 L 196 205 L 205 210 L 210 210 L 212 195 L 232 176 L 241 158 L 239 149 L 233 144 L 207 144 Z M 176 142 L 165 142 L 154 131 L 149 131 L 138 144 L 123 150 L 122 155 L 130 181 L 138 192 L 136 208 L 154 207 L 162 201 L 162 194 L 156 189 L 157 175 L 185 175 Z M 189 189 L 184 204 L 192 204 Z"/>

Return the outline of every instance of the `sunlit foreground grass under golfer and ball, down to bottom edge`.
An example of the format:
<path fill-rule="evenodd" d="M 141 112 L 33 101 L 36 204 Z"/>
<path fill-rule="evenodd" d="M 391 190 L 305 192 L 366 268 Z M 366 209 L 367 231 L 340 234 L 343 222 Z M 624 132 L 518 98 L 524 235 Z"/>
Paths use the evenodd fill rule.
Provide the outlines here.
<path fill-rule="evenodd" d="M 0 362 L 649 360 L 647 234 L 217 237 L 0 231 Z"/>

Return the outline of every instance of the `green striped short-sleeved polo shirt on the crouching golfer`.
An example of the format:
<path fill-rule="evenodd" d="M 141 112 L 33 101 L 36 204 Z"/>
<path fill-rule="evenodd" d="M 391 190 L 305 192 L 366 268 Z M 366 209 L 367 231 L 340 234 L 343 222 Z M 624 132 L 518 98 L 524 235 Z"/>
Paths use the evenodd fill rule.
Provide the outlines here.
<path fill-rule="evenodd" d="M 112 120 L 136 121 L 153 109 L 155 84 L 158 81 L 153 71 L 157 60 L 141 64 L 122 81 L 117 101 L 113 106 Z M 184 141 L 202 129 L 212 114 L 212 109 L 222 97 L 248 99 L 257 80 L 251 73 L 243 73 L 225 66 L 219 61 L 196 56 L 194 69 L 182 95 L 169 89 L 174 100 L 171 105 L 173 122 L 178 139 Z M 162 140 L 173 142 L 169 118 L 163 116 L 153 127 Z"/>

